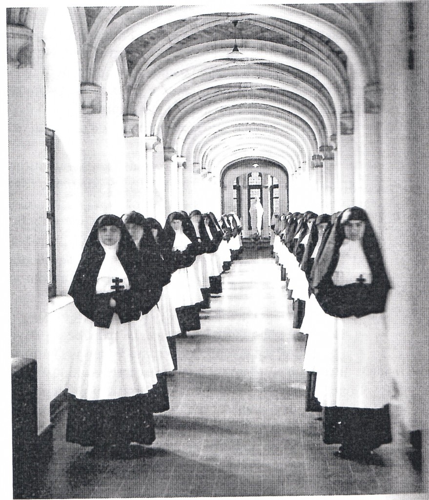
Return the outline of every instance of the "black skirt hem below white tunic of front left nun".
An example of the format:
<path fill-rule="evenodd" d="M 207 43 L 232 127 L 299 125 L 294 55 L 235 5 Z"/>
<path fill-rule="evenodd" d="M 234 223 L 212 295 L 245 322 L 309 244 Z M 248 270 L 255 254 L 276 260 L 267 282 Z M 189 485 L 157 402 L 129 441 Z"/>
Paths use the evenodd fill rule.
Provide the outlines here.
<path fill-rule="evenodd" d="M 147 394 L 117 399 L 68 399 L 66 440 L 82 446 L 151 444 L 155 440 L 153 414 Z"/>

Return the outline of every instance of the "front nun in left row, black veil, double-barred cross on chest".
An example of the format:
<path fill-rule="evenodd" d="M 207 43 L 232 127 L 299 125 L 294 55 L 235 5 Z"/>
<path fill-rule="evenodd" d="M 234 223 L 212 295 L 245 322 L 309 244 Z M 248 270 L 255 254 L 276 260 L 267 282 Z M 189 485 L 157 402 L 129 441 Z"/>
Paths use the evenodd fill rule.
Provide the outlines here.
<path fill-rule="evenodd" d="M 93 446 L 95 456 L 151 444 L 147 393 L 156 369 L 139 322 L 142 304 L 147 312 L 153 301 L 141 283 L 137 248 L 116 215 L 95 221 L 68 293 L 81 315 L 67 384 L 67 441 Z"/>

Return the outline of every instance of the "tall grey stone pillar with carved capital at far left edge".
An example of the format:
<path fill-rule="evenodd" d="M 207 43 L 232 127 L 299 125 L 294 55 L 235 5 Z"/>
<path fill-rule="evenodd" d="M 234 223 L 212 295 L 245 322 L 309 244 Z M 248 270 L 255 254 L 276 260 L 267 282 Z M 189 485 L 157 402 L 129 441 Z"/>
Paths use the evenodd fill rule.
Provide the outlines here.
<path fill-rule="evenodd" d="M 13 19 L 8 19 L 12 21 Z M 12 357 L 37 360 L 37 427 L 49 424 L 44 48 L 23 25 L 7 25 L 7 110 Z M 7 183 L 7 170 L 2 181 Z M 7 230 L 7 229 L 6 229 Z M 7 243 L 6 243 L 7 244 Z M 3 272 L 7 282 L 8 262 Z M 7 285 L 4 285 L 7 286 Z M 4 293 L 6 296 L 6 293 Z M 3 310 L 9 305 L 3 302 Z M 8 314 L 2 326 L 8 331 Z"/>

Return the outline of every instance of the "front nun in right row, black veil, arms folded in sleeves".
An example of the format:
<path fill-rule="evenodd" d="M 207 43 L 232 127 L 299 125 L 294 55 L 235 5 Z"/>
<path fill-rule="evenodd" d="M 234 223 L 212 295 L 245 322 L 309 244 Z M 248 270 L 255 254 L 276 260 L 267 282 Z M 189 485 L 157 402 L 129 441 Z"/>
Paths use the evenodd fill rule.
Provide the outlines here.
<path fill-rule="evenodd" d="M 312 290 L 335 318 L 325 338 L 315 396 L 323 408 L 323 440 L 341 458 L 373 462 L 391 441 L 392 378 L 385 356 L 385 303 L 390 283 L 366 212 L 353 206 L 336 219 L 312 269 Z"/>

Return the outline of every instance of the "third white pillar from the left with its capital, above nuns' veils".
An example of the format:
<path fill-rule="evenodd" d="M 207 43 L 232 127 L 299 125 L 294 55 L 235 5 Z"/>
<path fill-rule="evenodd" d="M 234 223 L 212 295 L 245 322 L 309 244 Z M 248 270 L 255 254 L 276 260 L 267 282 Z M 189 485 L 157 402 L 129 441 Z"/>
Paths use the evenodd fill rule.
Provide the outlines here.
<path fill-rule="evenodd" d="M 146 214 L 146 169 L 141 153 L 138 116 L 123 115 L 123 135 L 125 137 L 125 211 L 135 210 Z M 120 215 L 120 214 L 119 214 Z"/>

